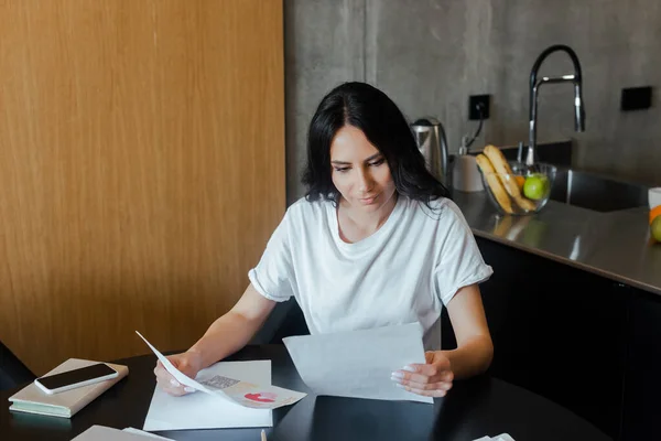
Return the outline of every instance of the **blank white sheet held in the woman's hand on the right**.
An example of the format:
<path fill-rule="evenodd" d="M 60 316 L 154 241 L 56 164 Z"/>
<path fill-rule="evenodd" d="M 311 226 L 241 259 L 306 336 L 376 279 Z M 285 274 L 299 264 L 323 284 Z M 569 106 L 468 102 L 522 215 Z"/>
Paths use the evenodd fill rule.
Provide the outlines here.
<path fill-rule="evenodd" d="M 425 363 L 419 323 L 282 340 L 303 381 L 316 394 L 434 402 L 394 386 L 394 370 Z"/>

